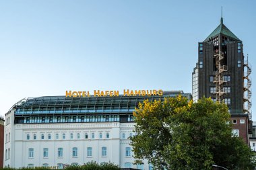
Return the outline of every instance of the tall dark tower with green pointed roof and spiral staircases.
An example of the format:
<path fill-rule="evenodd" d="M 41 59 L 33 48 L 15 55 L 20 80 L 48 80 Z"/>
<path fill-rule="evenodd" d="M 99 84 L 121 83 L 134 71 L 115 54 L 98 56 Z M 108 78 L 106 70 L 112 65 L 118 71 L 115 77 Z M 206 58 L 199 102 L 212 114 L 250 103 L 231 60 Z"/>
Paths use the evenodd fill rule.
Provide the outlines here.
<path fill-rule="evenodd" d="M 252 132 L 251 66 L 243 54 L 243 42 L 223 24 L 198 46 L 198 62 L 192 73 L 192 94 L 197 101 L 212 97 L 228 105 L 233 133 L 249 144 Z"/>

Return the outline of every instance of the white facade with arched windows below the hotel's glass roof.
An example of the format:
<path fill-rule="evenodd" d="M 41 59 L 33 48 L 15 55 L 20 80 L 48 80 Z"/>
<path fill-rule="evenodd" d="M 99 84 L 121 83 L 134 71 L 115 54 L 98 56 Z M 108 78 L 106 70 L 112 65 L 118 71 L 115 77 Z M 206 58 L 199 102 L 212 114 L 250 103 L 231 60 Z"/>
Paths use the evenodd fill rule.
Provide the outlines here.
<path fill-rule="evenodd" d="M 62 168 L 96 161 L 151 169 L 147 161 L 133 165 L 128 137 L 133 135 L 134 123 L 13 124 L 13 119 L 11 110 L 5 117 L 4 166 Z"/>

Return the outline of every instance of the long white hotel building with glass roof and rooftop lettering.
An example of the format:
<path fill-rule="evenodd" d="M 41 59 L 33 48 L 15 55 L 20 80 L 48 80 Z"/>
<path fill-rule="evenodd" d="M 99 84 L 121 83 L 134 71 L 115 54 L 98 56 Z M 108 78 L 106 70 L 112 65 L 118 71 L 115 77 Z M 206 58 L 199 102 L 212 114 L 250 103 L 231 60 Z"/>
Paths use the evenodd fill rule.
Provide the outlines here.
<path fill-rule="evenodd" d="M 63 169 L 63 165 L 96 161 L 152 169 L 147 161 L 133 165 L 129 136 L 133 136 L 135 107 L 145 99 L 163 101 L 179 94 L 192 99 L 183 91 L 96 93 L 83 96 L 83 92 L 67 91 L 67 97 L 28 98 L 13 105 L 5 114 L 4 166 Z"/>

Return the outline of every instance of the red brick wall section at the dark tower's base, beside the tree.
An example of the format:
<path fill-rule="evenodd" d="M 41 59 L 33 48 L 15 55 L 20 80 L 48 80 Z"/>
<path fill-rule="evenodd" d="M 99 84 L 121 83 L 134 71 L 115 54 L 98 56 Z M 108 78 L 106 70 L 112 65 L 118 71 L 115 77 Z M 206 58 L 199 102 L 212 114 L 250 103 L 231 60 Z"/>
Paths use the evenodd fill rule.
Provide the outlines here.
<path fill-rule="evenodd" d="M 236 123 L 234 123 L 236 120 Z M 241 120 L 245 120 L 245 124 L 241 124 Z M 233 122 L 234 121 L 234 122 Z M 231 124 L 233 129 L 239 130 L 239 137 L 245 140 L 245 143 L 249 144 L 249 136 L 248 136 L 248 118 L 247 116 L 231 116 Z"/>

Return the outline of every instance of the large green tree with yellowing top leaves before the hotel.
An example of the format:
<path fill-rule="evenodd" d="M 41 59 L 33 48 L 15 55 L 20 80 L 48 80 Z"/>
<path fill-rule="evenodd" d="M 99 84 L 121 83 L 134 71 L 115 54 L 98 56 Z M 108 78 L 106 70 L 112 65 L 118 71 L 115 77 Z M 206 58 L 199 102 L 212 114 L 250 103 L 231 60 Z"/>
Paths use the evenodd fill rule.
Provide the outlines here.
<path fill-rule="evenodd" d="M 144 101 L 133 113 L 136 135 L 131 146 L 136 163 L 148 159 L 155 169 L 255 169 L 255 154 L 232 136 L 224 103 L 203 98 L 197 103 L 179 95 Z"/>

